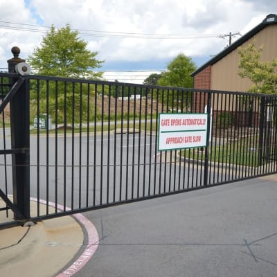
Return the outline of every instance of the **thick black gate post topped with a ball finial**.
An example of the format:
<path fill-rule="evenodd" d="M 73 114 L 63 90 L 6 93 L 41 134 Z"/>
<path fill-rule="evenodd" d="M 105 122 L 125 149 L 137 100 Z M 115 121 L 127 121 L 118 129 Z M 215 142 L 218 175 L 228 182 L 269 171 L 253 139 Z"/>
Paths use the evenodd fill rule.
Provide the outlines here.
<path fill-rule="evenodd" d="M 20 49 L 12 47 L 14 57 L 8 60 L 9 73 L 16 73 L 15 66 L 25 62 L 19 57 Z M 17 78 L 10 78 L 13 85 Z M 10 135 L 12 146 L 12 194 L 13 203 L 24 218 L 30 218 L 30 102 L 29 80 L 19 87 L 10 100 Z M 16 215 L 15 215 L 16 217 Z"/>

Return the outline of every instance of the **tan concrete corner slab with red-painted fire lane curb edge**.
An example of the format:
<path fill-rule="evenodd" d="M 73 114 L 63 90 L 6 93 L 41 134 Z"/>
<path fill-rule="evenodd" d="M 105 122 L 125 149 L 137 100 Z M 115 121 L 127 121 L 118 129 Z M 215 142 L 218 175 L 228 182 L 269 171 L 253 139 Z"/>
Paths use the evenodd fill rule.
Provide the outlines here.
<path fill-rule="evenodd" d="M 30 203 L 31 210 L 37 208 L 37 203 Z M 0 212 L 0 221 L 2 217 L 6 211 Z M 95 227 L 81 214 L 3 229 L 0 237 L 1 276 L 9 277 L 73 276 L 93 256 L 99 241 Z"/>

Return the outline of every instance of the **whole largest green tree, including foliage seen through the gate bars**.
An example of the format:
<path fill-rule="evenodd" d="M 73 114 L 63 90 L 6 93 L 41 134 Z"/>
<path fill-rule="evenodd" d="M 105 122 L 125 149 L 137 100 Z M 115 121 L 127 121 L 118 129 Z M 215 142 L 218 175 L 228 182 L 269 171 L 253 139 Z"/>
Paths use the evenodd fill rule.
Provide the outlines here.
<path fill-rule="evenodd" d="M 57 30 L 51 26 L 42 38 L 41 46 L 36 47 L 33 55 L 28 57 L 28 62 L 39 75 L 87 79 L 102 77 L 101 72 L 93 72 L 102 64 L 102 61 L 96 60 L 98 52 L 87 50 L 87 42 L 78 35 L 78 31 L 72 31 L 69 24 Z M 30 93 L 32 106 L 39 105 L 39 114 L 48 113 L 54 120 L 71 125 L 80 123 L 80 118 L 86 118 L 86 84 L 82 84 L 81 88 L 77 83 L 67 82 L 65 87 L 59 82 L 57 88 L 57 84 L 50 81 L 40 82 L 39 86 L 39 102 L 35 84 Z"/>

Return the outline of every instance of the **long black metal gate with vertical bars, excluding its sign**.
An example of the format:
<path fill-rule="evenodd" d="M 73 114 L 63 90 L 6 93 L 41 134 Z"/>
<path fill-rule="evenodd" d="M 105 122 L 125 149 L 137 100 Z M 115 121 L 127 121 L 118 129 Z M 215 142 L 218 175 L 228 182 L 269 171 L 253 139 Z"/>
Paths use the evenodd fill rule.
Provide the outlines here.
<path fill-rule="evenodd" d="M 2 198 L 8 196 L 1 208 L 17 215 L 10 224 L 277 172 L 276 96 L 8 73 L 0 78 L 0 188 Z M 22 93 L 26 98 L 13 102 Z M 159 114 L 197 112 L 208 113 L 207 146 L 159 151 Z"/>

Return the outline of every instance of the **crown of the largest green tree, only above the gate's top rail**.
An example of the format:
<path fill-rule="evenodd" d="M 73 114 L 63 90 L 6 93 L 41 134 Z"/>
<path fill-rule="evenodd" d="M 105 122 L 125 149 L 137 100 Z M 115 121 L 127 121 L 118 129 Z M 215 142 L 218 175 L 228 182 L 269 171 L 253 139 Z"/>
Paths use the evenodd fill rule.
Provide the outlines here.
<path fill-rule="evenodd" d="M 69 24 L 55 29 L 52 25 L 42 38 L 40 47 L 36 47 L 28 62 L 39 75 L 72 78 L 98 78 L 101 72 L 92 69 L 100 68 L 102 61 L 96 60 L 98 52 L 87 50 L 87 42 L 78 37 L 78 31 L 71 30 Z"/>

